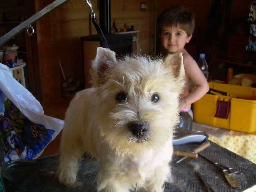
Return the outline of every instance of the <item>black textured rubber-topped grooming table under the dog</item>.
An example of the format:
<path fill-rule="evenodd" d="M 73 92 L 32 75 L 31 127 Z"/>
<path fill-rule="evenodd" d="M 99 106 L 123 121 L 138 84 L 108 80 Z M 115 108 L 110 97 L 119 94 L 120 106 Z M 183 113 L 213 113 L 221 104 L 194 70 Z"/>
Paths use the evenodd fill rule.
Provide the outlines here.
<path fill-rule="evenodd" d="M 197 146 L 198 144 L 174 146 L 174 150 L 188 151 Z M 201 153 L 243 172 L 242 175 L 234 175 L 241 188 L 233 189 L 229 187 L 224 174 L 220 169 L 201 156 L 184 166 L 175 163 L 181 156 L 173 156 L 172 162 L 170 163 L 172 166 L 173 182 L 165 183 L 164 192 L 206 191 L 204 184 L 197 176 L 196 172 L 200 172 L 211 187 L 218 192 L 244 191 L 256 184 L 256 164 L 251 161 L 238 156 L 213 142 L 211 142 L 210 147 L 206 148 Z M 95 177 L 100 169 L 97 161 L 88 161 L 86 160 L 86 157 L 84 157 L 80 163 L 77 182 L 71 187 L 61 185 L 58 181 L 56 175 L 58 155 L 42 157 L 33 161 L 37 161 L 39 165 L 16 165 L 8 168 L 7 171 L 15 178 L 16 182 L 15 184 L 11 184 L 4 180 L 4 188 L 6 192 L 96 192 Z M 255 189 L 248 189 L 248 191 L 255 191 Z"/>

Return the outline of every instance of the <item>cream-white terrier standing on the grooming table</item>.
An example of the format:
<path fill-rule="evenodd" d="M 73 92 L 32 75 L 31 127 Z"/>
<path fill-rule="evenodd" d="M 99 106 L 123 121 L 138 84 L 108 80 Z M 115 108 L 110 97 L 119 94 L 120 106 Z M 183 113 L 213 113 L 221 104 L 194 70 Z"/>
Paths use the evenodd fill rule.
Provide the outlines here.
<path fill-rule="evenodd" d="M 164 191 L 184 73 L 181 53 L 117 60 L 115 52 L 98 48 L 93 88 L 78 92 L 66 112 L 60 182 L 75 183 L 86 152 L 100 162 L 98 191 Z"/>

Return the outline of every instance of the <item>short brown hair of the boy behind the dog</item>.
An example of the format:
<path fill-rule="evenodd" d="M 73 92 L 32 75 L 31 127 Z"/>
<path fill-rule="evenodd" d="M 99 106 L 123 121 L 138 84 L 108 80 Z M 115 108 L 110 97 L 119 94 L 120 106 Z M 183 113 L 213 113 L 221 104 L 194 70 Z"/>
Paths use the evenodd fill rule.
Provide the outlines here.
<path fill-rule="evenodd" d="M 172 6 L 165 9 L 157 18 L 158 31 L 161 36 L 162 26 L 175 25 L 184 30 L 188 36 L 191 36 L 195 29 L 194 14 L 183 6 Z"/>

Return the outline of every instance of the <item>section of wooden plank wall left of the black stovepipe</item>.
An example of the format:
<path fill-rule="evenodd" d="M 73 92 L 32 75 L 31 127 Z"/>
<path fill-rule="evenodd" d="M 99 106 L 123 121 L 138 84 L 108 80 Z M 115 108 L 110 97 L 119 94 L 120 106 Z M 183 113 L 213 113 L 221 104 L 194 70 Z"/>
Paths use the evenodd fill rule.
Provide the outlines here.
<path fill-rule="evenodd" d="M 52 1 L 36 0 L 37 11 Z M 93 2 L 93 1 L 92 1 Z M 96 2 L 97 3 L 97 2 Z M 71 0 L 37 22 L 37 40 L 42 101 L 62 99 L 61 61 L 65 77 L 81 80 L 82 49 L 80 37 L 89 35 L 89 7 L 86 1 Z M 95 32 L 96 33 L 96 30 Z"/>

